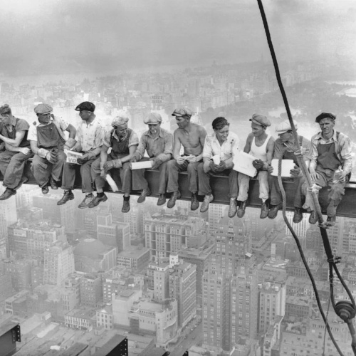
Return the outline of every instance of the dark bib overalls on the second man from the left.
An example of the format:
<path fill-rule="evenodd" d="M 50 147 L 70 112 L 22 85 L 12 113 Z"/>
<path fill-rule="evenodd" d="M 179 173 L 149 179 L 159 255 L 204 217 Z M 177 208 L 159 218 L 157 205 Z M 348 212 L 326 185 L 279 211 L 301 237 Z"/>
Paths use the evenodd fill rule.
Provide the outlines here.
<path fill-rule="evenodd" d="M 52 176 L 58 182 L 61 179 L 63 164 L 66 162 L 66 154 L 63 152 L 65 140 L 58 132 L 58 128 L 51 122 L 45 126 L 36 127 L 37 146 L 57 154 L 56 163 L 48 162 L 46 158 L 35 155 L 31 171 L 40 187 L 45 187 Z"/>

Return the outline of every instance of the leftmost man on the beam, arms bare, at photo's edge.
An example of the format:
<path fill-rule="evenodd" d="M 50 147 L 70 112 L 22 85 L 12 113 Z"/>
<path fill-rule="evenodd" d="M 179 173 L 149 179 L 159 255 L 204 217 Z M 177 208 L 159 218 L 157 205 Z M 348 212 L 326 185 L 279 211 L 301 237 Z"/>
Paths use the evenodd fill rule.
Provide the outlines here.
<path fill-rule="evenodd" d="M 5 150 L 0 152 L 0 172 L 4 177 L 3 187 L 6 187 L 0 200 L 6 200 L 15 195 L 16 190 L 27 182 L 28 179 L 23 176 L 23 169 L 27 159 L 33 157 L 33 153 L 27 139 L 30 127 L 28 122 L 14 117 L 8 104 L 0 107 L 0 119 L 2 123 L 0 140 L 5 142 Z"/>

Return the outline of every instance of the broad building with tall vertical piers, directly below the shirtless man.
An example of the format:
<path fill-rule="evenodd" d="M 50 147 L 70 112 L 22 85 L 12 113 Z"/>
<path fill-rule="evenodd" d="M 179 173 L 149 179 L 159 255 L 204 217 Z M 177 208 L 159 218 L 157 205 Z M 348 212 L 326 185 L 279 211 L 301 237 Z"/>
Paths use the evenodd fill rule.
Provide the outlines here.
<path fill-rule="evenodd" d="M 145 219 L 145 246 L 156 261 L 184 247 L 199 247 L 206 241 L 206 223 L 201 218 L 173 214 L 152 214 Z"/>

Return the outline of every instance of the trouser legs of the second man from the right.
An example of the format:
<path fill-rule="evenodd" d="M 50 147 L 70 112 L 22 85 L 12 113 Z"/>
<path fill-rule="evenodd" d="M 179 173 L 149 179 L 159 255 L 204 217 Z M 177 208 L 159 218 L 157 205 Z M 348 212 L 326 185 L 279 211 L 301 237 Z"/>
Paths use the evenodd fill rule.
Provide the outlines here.
<path fill-rule="evenodd" d="M 303 206 L 305 199 L 304 182 L 304 176 L 293 178 L 292 192 L 294 193 L 293 205 L 295 208 L 301 208 Z M 282 194 L 278 184 L 278 177 L 268 175 L 268 183 L 271 192 L 271 205 L 282 204 Z"/>

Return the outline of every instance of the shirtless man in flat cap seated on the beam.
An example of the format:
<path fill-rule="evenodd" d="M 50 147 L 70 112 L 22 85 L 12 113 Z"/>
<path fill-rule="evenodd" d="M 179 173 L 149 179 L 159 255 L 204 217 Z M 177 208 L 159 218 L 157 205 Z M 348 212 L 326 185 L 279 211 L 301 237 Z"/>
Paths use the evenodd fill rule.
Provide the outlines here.
<path fill-rule="evenodd" d="M 206 130 L 201 125 L 190 122 L 192 112 L 189 109 L 178 108 L 172 116 L 176 117 L 178 128 L 174 131 L 174 159 L 167 164 L 167 192 L 172 193 L 167 207 L 172 208 L 181 197 L 178 186 L 179 172 L 187 171 L 189 192 L 192 193 L 190 209 L 197 210 L 198 165 L 203 158 Z M 180 155 L 181 147 L 184 147 L 183 156 Z"/>

